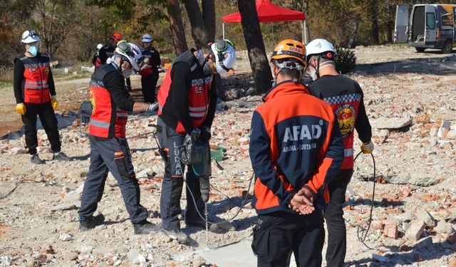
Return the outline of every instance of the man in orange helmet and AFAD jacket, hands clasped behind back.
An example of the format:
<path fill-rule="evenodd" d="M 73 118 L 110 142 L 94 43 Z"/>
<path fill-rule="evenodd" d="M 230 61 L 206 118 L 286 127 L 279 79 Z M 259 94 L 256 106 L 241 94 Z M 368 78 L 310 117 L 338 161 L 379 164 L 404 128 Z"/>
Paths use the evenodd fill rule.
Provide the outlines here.
<path fill-rule="evenodd" d="M 324 243 L 322 203 L 326 184 L 337 174 L 343 142 L 331 106 L 299 83 L 306 66 L 300 41 L 274 48 L 276 85 L 252 116 L 249 153 L 255 173 L 252 249 L 258 266 L 321 266 Z M 321 199 L 321 198 L 320 198 Z"/>

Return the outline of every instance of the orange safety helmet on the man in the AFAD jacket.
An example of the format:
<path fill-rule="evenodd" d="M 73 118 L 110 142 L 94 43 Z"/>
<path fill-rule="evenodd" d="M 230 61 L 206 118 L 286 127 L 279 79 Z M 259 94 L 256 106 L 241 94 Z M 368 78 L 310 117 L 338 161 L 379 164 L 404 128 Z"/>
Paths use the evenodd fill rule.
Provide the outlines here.
<path fill-rule="evenodd" d="M 284 58 L 296 58 L 303 66 L 306 66 L 306 46 L 293 39 L 280 41 L 274 48 L 270 61 Z"/>

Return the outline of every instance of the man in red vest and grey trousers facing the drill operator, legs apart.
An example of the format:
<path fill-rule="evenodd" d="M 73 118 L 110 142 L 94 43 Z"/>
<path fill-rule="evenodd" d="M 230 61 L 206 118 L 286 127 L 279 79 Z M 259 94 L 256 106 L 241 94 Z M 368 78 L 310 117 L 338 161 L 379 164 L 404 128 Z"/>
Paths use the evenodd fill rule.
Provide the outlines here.
<path fill-rule="evenodd" d="M 155 229 L 147 221 L 147 209 L 140 204 L 140 187 L 131 162 L 125 138 L 128 112 L 152 111 L 147 103 L 135 102 L 125 90 L 124 78 L 140 70 L 141 51 L 134 43 L 119 41 L 113 61 L 101 66 L 90 80 L 93 112 L 90 117 L 90 167 L 84 183 L 79 214 L 79 227 L 86 231 L 102 224 L 104 216 L 93 216 L 103 195 L 108 172 L 117 180 L 133 223 L 135 234 Z"/>

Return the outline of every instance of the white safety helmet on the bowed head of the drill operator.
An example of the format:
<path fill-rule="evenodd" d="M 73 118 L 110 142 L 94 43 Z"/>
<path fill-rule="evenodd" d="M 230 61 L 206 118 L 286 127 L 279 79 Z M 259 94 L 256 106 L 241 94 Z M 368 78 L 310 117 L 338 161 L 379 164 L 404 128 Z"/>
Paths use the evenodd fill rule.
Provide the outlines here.
<path fill-rule="evenodd" d="M 217 73 L 225 74 L 232 70 L 234 63 L 236 63 L 236 51 L 234 44 L 227 39 L 217 40 L 211 44 L 211 50 L 215 56 L 215 66 Z"/>

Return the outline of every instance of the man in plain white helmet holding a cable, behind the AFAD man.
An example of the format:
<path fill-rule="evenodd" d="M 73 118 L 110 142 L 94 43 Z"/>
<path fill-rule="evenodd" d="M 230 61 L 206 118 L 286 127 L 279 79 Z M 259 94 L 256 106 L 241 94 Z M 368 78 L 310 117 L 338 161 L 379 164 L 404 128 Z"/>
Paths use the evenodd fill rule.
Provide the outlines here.
<path fill-rule="evenodd" d="M 374 148 L 371 124 L 364 108 L 363 90 L 356 81 L 340 75 L 336 70 L 336 51 L 333 45 L 324 39 L 315 39 L 306 48 L 306 61 L 314 80 L 309 85 L 309 90 L 312 95 L 331 105 L 336 112 L 338 127 L 343 137 L 345 157 L 341 172 L 328 184 L 331 200 L 325 210 L 328 228 L 326 263 L 328 266 L 343 266 L 347 245 L 342 207 L 347 185 L 353 174 L 353 133 L 356 129 L 359 139 L 363 142 L 361 150 L 370 154 Z"/>

